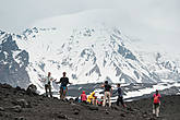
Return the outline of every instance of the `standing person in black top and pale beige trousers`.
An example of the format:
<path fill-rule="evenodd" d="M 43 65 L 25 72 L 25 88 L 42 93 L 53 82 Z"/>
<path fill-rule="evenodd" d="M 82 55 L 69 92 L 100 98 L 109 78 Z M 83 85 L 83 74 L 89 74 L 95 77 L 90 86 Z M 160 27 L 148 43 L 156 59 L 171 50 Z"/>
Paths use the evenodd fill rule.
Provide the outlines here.
<path fill-rule="evenodd" d="M 108 84 L 108 81 L 105 81 L 105 84 L 101 85 L 101 87 L 105 87 L 105 96 L 104 96 L 103 106 L 106 106 L 106 99 L 108 98 L 109 107 L 111 107 L 111 103 L 110 103 L 110 96 L 112 92 L 111 85 Z"/>

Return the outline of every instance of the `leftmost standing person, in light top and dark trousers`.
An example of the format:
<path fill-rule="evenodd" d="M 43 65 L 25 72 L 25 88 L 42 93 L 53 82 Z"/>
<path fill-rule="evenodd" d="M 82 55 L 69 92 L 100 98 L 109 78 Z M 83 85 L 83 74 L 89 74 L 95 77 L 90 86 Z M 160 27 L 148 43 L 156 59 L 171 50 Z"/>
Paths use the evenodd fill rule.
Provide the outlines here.
<path fill-rule="evenodd" d="M 44 82 L 45 82 L 45 92 L 46 92 L 46 96 L 47 97 L 48 97 L 48 93 L 49 93 L 50 97 L 52 97 L 52 93 L 51 93 L 51 81 L 53 81 L 53 79 L 51 77 L 51 73 L 48 72 L 48 76 L 44 79 Z"/>

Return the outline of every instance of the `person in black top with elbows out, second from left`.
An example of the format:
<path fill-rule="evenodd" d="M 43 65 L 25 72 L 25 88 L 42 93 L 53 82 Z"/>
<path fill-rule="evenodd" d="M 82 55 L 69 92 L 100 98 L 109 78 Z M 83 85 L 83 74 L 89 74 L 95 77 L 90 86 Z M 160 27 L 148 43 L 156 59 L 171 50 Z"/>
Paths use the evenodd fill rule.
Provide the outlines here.
<path fill-rule="evenodd" d="M 60 99 L 64 99 L 64 98 L 65 98 L 65 95 L 67 95 L 67 92 L 68 92 L 67 85 L 68 85 L 68 84 L 71 84 L 71 83 L 69 82 L 69 79 L 65 76 L 67 73 L 63 72 L 62 75 L 63 75 L 63 76 L 60 79 L 60 81 L 57 82 L 57 84 L 60 84 L 60 83 L 61 83 L 61 85 L 60 85 Z"/>

